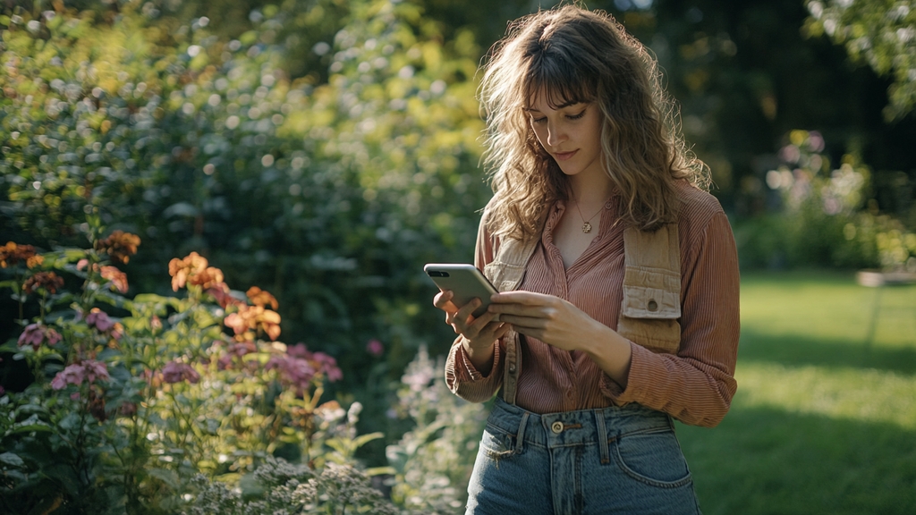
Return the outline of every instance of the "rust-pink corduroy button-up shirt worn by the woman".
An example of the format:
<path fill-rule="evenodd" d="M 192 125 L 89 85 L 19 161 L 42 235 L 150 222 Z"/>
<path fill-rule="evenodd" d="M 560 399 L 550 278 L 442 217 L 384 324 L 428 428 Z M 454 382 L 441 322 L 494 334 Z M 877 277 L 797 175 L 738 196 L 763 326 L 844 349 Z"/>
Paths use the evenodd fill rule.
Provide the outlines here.
<path fill-rule="evenodd" d="M 521 369 L 516 403 L 535 413 L 585 410 L 638 402 L 675 419 L 714 426 L 725 417 L 735 395 L 739 310 L 735 238 L 718 201 L 709 193 L 678 182 L 681 247 L 681 346 L 676 355 L 655 354 L 630 343 L 632 363 L 622 389 L 584 352 L 567 352 L 520 336 Z M 570 268 L 553 245 L 553 227 L 562 202 L 551 208 L 540 244 L 529 260 L 519 290 L 555 295 L 572 302 L 616 329 L 623 300 L 624 225 L 616 224 L 618 197 L 605 203 L 598 234 Z M 498 238 L 481 221 L 474 264 L 483 269 L 496 256 Z M 487 376 L 465 355 L 460 337 L 445 365 L 449 388 L 466 400 L 491 398 L 503 378 L 497 345 Z"/>

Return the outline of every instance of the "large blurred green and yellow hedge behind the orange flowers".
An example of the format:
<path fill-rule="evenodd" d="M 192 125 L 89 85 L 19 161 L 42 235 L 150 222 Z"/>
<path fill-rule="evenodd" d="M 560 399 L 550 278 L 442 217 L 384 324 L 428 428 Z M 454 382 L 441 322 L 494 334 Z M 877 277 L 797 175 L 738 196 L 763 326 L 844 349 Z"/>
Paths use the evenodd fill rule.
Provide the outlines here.
<path fill-rule="evenodd" d="M 87 215 L 135 232 L 142 290 L 163 292 L 160 264 L 197 251 L 274 292 L 286 333 L 353 370 L 341 388 L 374 394 L 366 341 L 385 342 L 397 378 L 421 340 L 447 339 L 421 316 L 421 264 L 470 258 L 488 194 L 473 37 L 442 41 L 409 3 L 350 3 L 311 47 L 328 66 L 316 85 L 281 66 L 288 11 L 256 11 L 225 41 L 155 5 L 9 16 L 4 226 L 44 247 L 84 241 Z"/>

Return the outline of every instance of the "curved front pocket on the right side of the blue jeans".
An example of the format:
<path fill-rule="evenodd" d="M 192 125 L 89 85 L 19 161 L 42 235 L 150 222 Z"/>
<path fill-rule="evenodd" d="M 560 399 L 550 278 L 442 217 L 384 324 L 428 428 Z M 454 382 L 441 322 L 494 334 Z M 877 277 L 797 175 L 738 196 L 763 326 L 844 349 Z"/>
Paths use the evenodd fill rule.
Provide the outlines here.
<path fill-rule="evenodd" d="M 670 429 L 630 433 L 616 439 L 611 454 L 627 476 L 659 488 L 690 483 L 681 445 Z"/>

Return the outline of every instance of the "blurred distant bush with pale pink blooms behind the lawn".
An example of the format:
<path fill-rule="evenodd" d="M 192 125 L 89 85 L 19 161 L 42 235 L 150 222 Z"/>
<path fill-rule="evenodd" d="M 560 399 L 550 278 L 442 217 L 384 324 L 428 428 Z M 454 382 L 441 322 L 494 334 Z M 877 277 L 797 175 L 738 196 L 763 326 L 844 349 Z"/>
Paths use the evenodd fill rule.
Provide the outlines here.
<path fill-rule="evenodd" d="M 736 227 L 746 268 L 916 269 L 916 234 L 866 203 L 870 170 L 851 155 L 831 170 L 817 132 L 792 131 L 766 183 L 771 214 Z"/>

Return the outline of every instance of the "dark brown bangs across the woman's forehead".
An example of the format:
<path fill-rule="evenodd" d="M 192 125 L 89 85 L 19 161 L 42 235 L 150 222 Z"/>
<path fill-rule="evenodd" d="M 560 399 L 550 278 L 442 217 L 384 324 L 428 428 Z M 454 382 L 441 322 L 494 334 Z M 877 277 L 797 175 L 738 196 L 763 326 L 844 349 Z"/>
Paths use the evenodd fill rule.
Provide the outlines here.
<path fill-rule="evenodd" d="M 522 82 L 522 98 L 529 108 L 541 95 L 546 94 L 551 109 L 572 104 L 594 102 L 596 86 L 584 76 L 583 70 L 568 60 L 556 59 L 548 52 L 531 56 L 529 69 Z"/>

